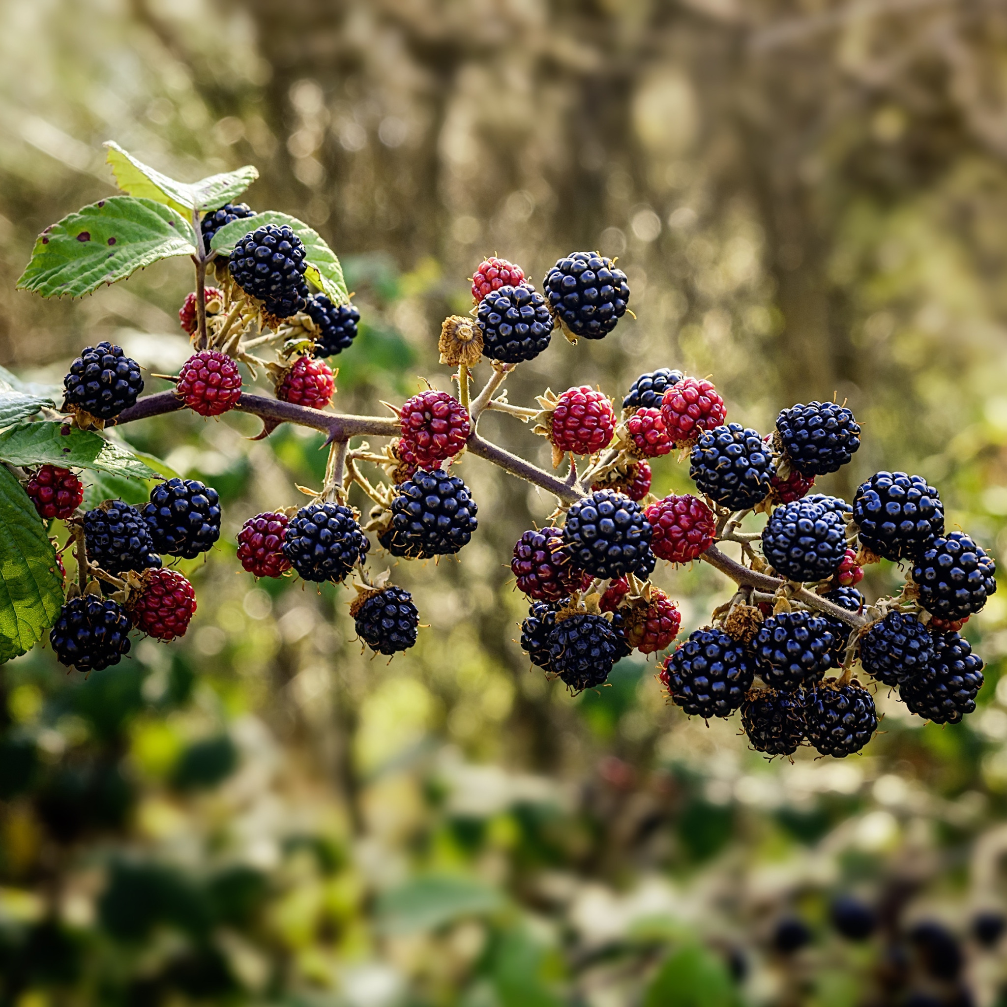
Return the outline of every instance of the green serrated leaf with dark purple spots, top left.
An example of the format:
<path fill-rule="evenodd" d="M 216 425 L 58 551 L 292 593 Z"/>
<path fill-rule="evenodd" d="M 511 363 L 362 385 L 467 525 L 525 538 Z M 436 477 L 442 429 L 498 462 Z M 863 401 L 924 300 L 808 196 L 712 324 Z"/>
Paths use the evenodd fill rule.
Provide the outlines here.
<path fill-rule="evenodd" d="M 194 255 L 192 226 L 153 199 L 114 195 L 64 217 L 38 236 L 18 289 L 81 297 L 160 259 Z"/>

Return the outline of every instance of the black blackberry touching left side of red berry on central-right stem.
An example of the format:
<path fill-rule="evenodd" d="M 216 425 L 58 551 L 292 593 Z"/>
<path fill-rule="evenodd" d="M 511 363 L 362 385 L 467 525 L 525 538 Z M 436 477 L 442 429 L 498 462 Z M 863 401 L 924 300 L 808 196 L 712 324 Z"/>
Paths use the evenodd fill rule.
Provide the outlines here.
<path fill-rule="evenodd" d="M 570 562 L 592 577 L 650 575 L 657 562 L 651 534 L 643 509 L 611 489 L 596 489 L 577 500 L 563 526 Z"/>

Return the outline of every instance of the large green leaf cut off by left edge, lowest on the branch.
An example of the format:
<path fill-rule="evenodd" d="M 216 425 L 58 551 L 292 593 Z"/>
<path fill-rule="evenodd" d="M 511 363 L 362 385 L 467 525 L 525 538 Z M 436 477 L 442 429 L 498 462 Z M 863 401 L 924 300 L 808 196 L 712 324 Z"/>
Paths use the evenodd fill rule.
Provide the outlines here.
<path fill-rule="evenodd" d="M 0 465 L 0 660 L 34 646 L 62 604 L 56 555 L 28 494 Z"/>

